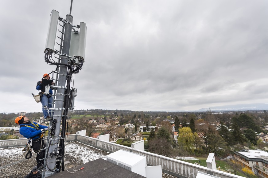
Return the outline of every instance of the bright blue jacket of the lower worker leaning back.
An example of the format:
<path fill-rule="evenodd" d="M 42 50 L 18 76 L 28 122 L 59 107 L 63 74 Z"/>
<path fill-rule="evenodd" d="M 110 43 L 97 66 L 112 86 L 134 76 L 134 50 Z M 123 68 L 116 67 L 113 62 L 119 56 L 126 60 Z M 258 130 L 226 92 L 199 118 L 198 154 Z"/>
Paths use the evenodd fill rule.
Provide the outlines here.
<path fill-rule="evenodd" d="M 38 125 L 37 129 L 32 123 L 30 123 L 30 124 L 20 124 L 20 126 L 21 126 L 20 134 L 23 135 L 27 139 L 32 138 L 33 140 L 35 140 L 35 139 L 40 138 L 40 134 L 42 132 L 41 129 L 48 128 L 48 126 L 39 125 L 36 122 L 33 122 L 33 123 Z M 30 127 L 27 127 L 27 126 L 24 126 L 24 125 L 27 125 L 27 126 L 30 126 Z"/>

